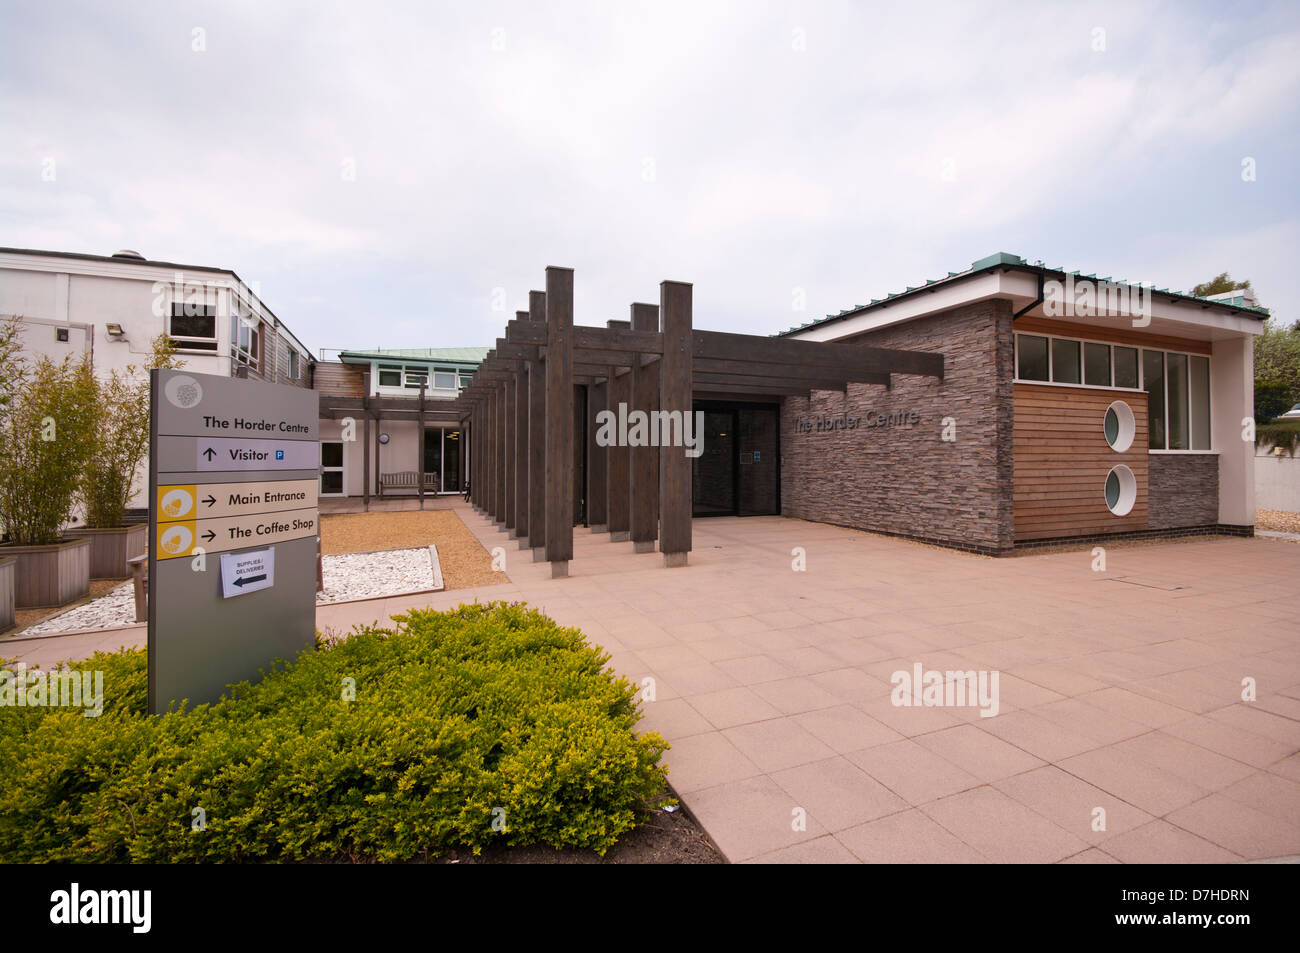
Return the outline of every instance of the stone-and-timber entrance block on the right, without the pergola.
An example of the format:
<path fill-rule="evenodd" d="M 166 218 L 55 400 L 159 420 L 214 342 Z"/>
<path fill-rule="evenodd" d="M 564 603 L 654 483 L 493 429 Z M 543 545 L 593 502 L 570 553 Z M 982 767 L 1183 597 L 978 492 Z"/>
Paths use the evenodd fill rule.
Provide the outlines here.
<path fill-rule="evenodd" d="M 784 400 L 781 512 L 993 554 L 1248 534 L 1244 424 L 1266 319 L 1240 293 L 1195 298 L 1004 252 L 794 328 L 784 337 L 941 351 L 945 373 Z"/>

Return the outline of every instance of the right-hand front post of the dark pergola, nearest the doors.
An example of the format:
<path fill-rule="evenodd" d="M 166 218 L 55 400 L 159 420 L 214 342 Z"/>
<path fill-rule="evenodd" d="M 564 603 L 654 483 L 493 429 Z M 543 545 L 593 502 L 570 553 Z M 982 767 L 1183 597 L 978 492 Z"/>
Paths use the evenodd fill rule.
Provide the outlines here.
<path fill-rule="evenodd" d="M 659 361 L 659 403 L 682 423 L 692 413 L 692 286 L 679 281 L 659 285 L 663 360 Z M 693 434 L 702 439 L 703 434 Z M 685 566 L 690 553 L 690 473 L 688 447 L 663 447 L 659 454 L 659 550 L 664 566 Z"/>

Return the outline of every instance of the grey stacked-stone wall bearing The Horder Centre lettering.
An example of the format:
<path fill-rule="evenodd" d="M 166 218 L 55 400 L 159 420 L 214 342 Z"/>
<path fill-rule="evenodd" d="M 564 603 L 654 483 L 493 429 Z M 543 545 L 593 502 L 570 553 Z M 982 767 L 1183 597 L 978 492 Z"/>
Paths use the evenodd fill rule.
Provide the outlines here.
<path fill-rule="evenodd" d="M 781 512 L 975 551 L 1010 550 L 1010 303 L 979 302 L 853 341 L 941 351 L 944 380 L 900 374 L 892 389 L 853 384 L 846 394 L 786 398 Z M 944 417 L 956 423 L 953 442 L 941 439 Z"/>

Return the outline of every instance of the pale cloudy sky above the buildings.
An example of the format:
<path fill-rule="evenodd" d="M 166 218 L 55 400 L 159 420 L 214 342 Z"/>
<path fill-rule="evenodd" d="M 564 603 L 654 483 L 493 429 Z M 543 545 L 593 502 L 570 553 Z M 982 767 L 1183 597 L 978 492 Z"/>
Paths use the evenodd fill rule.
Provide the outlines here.
<path fill-rule="evenodd" d="M 663 280 L 768 334 L 996 251 L 1300 320 L 1300 4 L 0 0 L 0 246 L 230 268 L 322 348 Z"/>

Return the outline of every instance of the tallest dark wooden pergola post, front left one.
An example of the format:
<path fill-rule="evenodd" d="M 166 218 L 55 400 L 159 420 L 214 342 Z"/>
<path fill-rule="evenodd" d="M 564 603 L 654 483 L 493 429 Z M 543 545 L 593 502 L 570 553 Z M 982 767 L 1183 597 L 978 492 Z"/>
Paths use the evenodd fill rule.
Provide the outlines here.
<path fill-rule="evenodd" d="M 532 326 L 532 322 L 521 326 Z M 573 559 L 573 269 L 546 269 L 546 559 Z"/>

